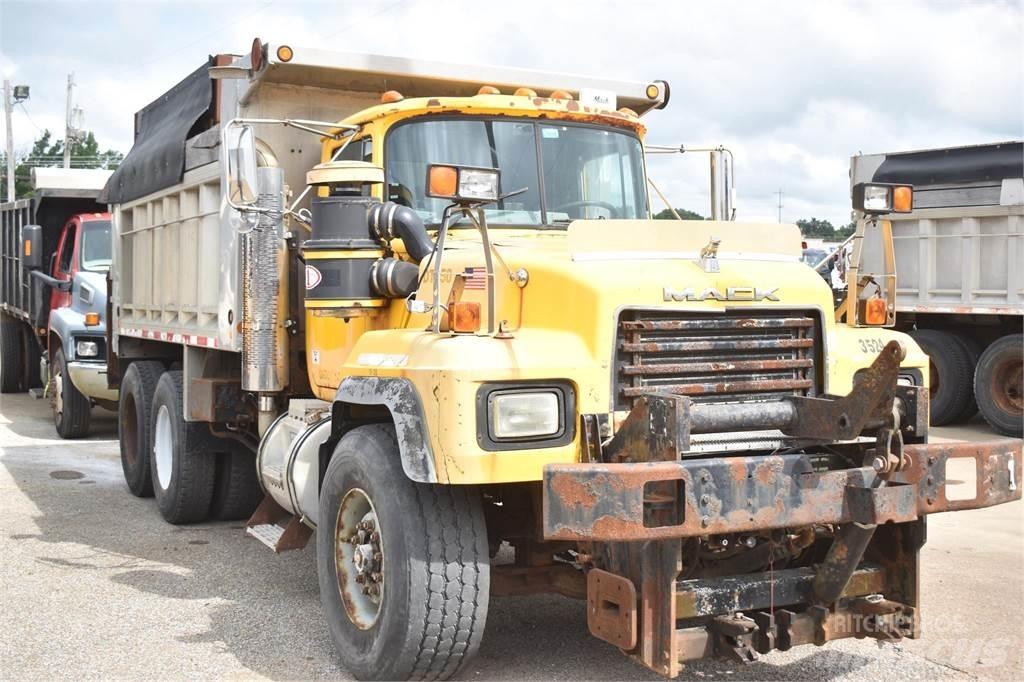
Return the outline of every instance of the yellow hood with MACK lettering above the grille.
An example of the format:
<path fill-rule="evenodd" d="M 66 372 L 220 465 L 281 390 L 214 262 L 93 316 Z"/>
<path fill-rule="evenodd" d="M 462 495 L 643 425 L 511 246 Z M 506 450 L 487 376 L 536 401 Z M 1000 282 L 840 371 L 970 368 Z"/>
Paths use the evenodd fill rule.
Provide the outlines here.
<path fill-rule="evenodd" d="M 796 225 L 673 220 L 578 220 L 567 230 L 493 228 L 497 309 L 506 328 L 579 334 L 607 361 L 627 308 L 725 312 L 737 307 L 814 309 L 831 324 L 831 291 L 800 261 Z M 701 250 L 718 241 L 717 256 Z M 486 305 L 483 251 L 475 230 L 445 243 L 442 296 L 466 276 L 463 300 Z M 526 271 L 519 288 L 509 272 Z M 430 300 L 430 278 L 419 297 Z"/>

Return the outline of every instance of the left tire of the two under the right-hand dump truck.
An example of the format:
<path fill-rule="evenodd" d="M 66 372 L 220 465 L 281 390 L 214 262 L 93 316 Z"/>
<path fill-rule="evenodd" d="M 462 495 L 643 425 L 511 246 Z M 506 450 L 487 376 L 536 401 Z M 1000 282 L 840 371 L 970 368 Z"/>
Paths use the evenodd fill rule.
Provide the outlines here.
<path fill-rule="evenodd" d="M 967 412 L 971 398 L 973 365 L 967 349 L 952 334 L 933 329 L 910 332 L 931 358 L 929 379 L 931 423 L 951 424 Z"/>

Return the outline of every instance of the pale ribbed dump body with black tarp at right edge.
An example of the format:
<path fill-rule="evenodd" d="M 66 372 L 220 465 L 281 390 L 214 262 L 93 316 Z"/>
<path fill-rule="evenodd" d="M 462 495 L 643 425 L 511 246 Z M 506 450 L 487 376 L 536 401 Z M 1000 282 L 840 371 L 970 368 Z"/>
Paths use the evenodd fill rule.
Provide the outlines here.
<path fill-rule="evenodd" d="M 1009 142 L 853 158 L 854 184 L 881 176 L 914 186 L 914 210 L 886 216 L 897 313 L 1024 313 L 1020 148 Z M 1007 174 L 1014 177 L 1000 177 Z"/>

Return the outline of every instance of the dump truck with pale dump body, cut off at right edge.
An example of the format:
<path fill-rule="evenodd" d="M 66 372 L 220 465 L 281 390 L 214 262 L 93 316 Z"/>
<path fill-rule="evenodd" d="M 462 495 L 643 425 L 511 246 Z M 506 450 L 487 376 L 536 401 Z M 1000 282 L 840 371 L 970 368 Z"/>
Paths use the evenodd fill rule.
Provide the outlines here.
<path fill-rule="evenodd" d="M 1024 429 L 1024 142 L 853 157 L 851 182 L 914 185 L 892 216 L 896 329 L 931 358 L 932 424 Z"/>

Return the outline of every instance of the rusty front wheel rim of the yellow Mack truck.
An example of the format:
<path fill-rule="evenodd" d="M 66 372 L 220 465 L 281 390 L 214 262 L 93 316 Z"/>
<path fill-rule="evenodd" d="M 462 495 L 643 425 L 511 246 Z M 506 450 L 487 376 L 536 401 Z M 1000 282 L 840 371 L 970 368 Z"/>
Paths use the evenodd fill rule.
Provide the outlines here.
<path fill-rule="evenodd" d="M 334 534 L 338 592 L 348 620 L 360 630 L 377 623 L 384 603 L 384 545 L 377 510 L 353 487 L 338 508 Z"/>

